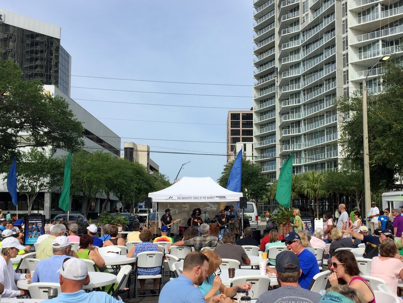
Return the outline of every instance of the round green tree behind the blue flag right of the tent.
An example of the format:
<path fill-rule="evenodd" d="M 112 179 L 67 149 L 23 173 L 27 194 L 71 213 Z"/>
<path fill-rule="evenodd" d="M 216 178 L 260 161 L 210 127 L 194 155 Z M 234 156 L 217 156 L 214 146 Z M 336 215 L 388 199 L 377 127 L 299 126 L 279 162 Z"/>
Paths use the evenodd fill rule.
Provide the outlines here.
<path fill-rule="evenodd" d="M 227 188 L 228 178 L 235 160 L 224 167 L 221 177 L 218 179 L 220 186 Z M 256 164 L 242 158 L 241 192 L 247 199 L 254 199 L 266 196 L 270 179 L 262 176 L 261 169 Z"/>

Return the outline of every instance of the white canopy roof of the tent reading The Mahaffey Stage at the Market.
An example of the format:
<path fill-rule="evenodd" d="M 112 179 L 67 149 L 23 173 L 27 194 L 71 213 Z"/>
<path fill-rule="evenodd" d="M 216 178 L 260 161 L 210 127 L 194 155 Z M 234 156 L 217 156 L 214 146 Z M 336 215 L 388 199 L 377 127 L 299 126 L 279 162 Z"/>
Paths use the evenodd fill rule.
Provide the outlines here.
<path fill-rule="evenodd" d="M 183 177 L 163 190 L 149 193 L 153 202 L 238 202 L 242 193 L 221 187 L 210 177 Z"/>

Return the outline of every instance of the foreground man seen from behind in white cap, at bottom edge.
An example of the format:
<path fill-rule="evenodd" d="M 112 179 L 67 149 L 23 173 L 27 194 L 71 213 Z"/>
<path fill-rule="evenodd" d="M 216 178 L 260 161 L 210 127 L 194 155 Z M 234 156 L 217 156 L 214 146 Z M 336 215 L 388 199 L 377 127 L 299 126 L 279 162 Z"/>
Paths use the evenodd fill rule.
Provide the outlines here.
<path fill-rule="evenodd" d="M 104 291 L 91 291 L 85 292 L 83 285 L 90 283 L 90 276 L 87 272 L 87 265 L 83 260 L 77 258 L 70 258 L 65 260 L 57 271 L 59 275 L 59 283 L 61 293 L 55 298 L 44 300 L 48 303 L 122 303 L 113 298 L 111 295 Z"/>

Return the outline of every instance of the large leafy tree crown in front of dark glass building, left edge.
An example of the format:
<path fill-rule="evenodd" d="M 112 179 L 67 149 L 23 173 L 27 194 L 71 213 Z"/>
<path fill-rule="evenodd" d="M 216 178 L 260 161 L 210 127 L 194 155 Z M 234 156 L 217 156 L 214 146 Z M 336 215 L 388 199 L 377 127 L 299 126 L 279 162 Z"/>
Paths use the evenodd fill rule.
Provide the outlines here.
<path fill-rule="evenodd" d="M 39 81 L 21 79 L 18 64 L 0 59 L 0 162 L 9 161 L 22 146 L 82 146 L 83 127 L 69 104 L 44 95 Z"/>

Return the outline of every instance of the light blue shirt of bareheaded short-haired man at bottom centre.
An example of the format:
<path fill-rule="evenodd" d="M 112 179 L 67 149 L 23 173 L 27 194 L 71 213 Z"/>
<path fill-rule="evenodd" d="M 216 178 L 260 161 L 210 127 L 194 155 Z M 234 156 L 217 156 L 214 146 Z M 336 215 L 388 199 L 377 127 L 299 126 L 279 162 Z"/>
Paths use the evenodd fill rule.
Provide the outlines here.
<path fill-rule="evenodd" d="M 162 287 L 158 303 L 172 300 L 172 295 L 175 295 L 175 302 L 177 303 L 206 303 L 200 289 L 194 287 L 192 281 L 183 274 Z"/>

